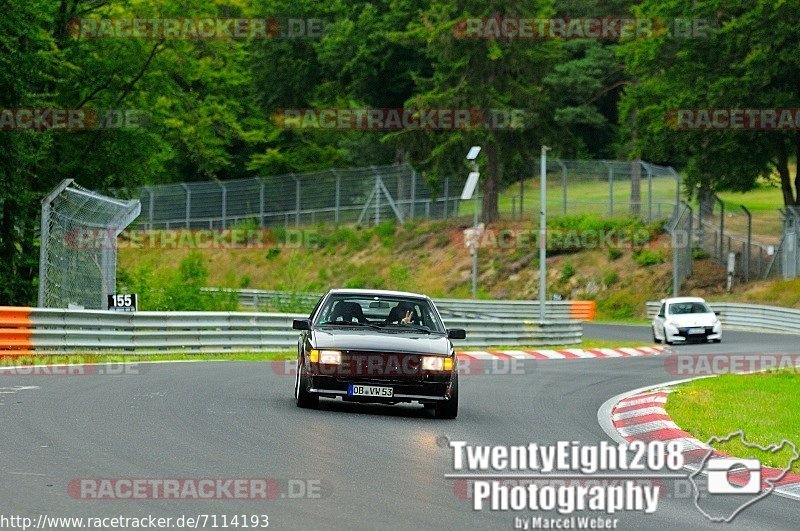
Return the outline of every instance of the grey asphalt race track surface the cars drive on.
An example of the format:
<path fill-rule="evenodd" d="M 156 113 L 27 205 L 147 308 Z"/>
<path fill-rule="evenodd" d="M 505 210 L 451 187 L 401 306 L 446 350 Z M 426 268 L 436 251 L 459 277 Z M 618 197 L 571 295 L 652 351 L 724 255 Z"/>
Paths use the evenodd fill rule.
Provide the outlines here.
<path fill-rule="evenodd" d="M 646 327 L 586 327 L 587 337 L 642 344 L 650 343 L 649 334 Z M 674 351 L 800 354 L 800 338 L 726 331 L 722 344 Z M 619 393 L 678 378 L 665 369 L 665 358 L 525 361 L 523 374 L 464 376 L 454 421 L 428 418 L 418 406 L 323 400 L 319 411 L 301 410 L 292 400 L 293 377 L 269 363 L 0 375 L 0 514 L 268 514 L 275 528 L 510 529 L 515 516 L 532 513 L 473 511 L 444 478 L 452 453 L 437 440 L 608 441 L 598 408 Z M 75 478 L 256 477 L 319 481 L 320 496 L 110 501 L 74 499 L 67 490 Z M 654 514 L 615 517 L 621 529 L 797 529 L 800 503 L 769 496 L 721 526 L 704 520 L 691 499 L 670 494 Z"/>

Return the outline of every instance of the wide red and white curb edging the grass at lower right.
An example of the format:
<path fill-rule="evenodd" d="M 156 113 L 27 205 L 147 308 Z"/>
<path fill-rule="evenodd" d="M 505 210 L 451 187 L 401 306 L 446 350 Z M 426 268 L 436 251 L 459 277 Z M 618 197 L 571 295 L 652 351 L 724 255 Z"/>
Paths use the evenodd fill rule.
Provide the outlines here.
<path fill-rule="evenodd" d="M 708 376 L 704 376 L 704 378 L 708 378 Z M 619 443 L 635 440 L 643 442 L 678 441 L 683 449 L 685 468 L 696 472 L 708 456 L 711 447 L 682 430 L 664 408 L 667 397 L 674 391 L 673 386 L 693 379 L 696 378 L 636 389 L 615 396 L 600 407 L 597 412 L 597 420 L 603 430 Z M 725 459 L 730 456 L 712 450 L 711 457 Z M 762 490 L 771 488 L 774 483 L 773 492 L 775 494 L 800 500 L 800 475 L 789 472 L 780 480 L 767 483 L 766 480 L 774 480 L 783 473 L 783 469 L 762 467 Z M 729 480 L 731 483 L 741 486 L 747 484 L 749 477 L 750 474 L 747 471 L 732 472 Z"/>

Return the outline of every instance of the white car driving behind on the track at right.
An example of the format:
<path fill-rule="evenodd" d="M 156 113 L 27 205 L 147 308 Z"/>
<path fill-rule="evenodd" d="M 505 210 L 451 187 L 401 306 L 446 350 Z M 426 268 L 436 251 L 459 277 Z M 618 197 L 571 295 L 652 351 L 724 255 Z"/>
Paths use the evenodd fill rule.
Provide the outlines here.
<path fill-rule="evenodd" d="M 663 299 L 653 319 L 653 340 L 687 343 L 689 341 L 722 341 L 722 323 L 717 313 L 700 297 Z"/>

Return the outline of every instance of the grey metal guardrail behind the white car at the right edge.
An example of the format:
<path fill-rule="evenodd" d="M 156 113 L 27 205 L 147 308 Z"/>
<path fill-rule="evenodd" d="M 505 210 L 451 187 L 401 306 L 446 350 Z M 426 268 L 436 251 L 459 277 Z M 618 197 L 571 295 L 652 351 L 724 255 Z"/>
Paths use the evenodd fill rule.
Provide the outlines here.
<path fill-rule="evenodd" d="M 774 330 L 800 334 L 800 310 L 733 302 L 709 302 L 708 305 L 715 312 L 720 312 L 719 320 L 723 325 L 746 330 Z M 660 302 L 647 302 L 648 319 L 655 317 L 660 306 Z"/>

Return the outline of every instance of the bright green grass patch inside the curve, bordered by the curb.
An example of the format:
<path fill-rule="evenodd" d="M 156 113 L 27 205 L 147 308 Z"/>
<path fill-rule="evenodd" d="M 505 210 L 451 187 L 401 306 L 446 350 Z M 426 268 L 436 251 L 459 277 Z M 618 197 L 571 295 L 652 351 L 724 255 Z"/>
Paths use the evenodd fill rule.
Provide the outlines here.
<path fill-rule="evenodd" d="M 756 374 L 725 374 L 678 387 L 667 401 L 675 423 L 701 441 L 743 430 L 748 442 L 761 446 L 792 441 L 800 448 L 800 374 L 794 370 Z M 738 440 L 715 445 L 736 457 L 753 456 L 767 466 L 783 468 L 792 456 L 788 448 L 764 452 Z M 800 462 L 792 467 L 800 473 Z"/>

